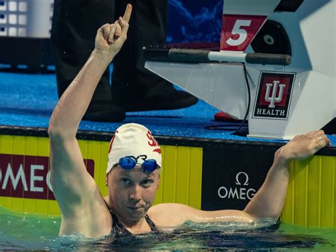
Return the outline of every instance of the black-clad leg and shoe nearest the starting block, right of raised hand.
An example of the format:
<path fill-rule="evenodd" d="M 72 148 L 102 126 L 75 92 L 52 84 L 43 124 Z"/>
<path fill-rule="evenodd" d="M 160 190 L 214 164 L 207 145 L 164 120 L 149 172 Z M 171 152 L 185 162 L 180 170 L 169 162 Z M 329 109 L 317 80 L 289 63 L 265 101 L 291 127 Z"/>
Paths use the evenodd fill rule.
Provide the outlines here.
<path fill-rule="evenodd" d="M 133 5 L 130 29 L 121 52 L 113 60 L 112 101 L 125 111 L 180 109 L 198 99 L 146 70 L 142 47 L 166 43 L 167 0 L 117 0 L 116 18 Z"/>

